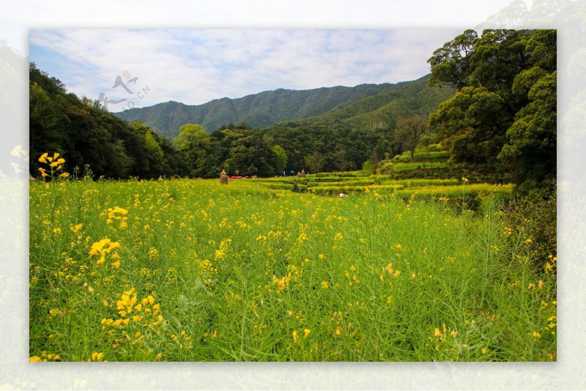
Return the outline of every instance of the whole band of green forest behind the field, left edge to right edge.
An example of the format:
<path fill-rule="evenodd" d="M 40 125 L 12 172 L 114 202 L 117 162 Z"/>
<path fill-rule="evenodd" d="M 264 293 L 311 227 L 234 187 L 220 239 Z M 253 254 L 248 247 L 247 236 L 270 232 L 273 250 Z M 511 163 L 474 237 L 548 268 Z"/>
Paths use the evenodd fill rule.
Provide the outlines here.
<path fill-rule="evenodd" d="M 314 116 L 291 111 L 287 121 L 274 115 L 268 126 L 230 122 L 211 129 L 186 116 L 175 136 L 77 97 L 31 62 L 30 166 L 50 151 L 67 156 L 70 172 L 91 170 L 95 178 L 213 178 L 223 169 L 270 177 L 357 170 L 436 145 L 448 152 L 450 163 L 482 168 L 494 183 L 528 191 L 554 180 L 556 31 L 466 30 L 430 54 L 428 76 L 362 85 L 355 97 L 344 90 Z M 281 96 L 272 109 L 307 102 L 315 107 L 319 99 L 340 96 L 316 91 L 317 98 L 305 92 L 304 103 L 289 104 L 284 90 L 272 91 Z M 248 101 L 262 105 L 258 98 Z M 255 112 L 271 115 L 267 105 Z"/>

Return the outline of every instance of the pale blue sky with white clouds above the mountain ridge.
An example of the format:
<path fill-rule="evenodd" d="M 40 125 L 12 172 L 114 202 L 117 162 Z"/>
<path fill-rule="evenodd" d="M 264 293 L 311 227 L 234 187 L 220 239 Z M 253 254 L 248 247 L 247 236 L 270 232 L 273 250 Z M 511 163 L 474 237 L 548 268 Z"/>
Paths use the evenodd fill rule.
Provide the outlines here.
<path fill-rule="evenodd" d="M 104 94 L 108 109 L 121 111 L 277 88 L 415 80 L 430 72 L 427 59 L 434 50 L 461 32 L 32 29 L 29 56 L 68 91 L 92 100 Z"/>

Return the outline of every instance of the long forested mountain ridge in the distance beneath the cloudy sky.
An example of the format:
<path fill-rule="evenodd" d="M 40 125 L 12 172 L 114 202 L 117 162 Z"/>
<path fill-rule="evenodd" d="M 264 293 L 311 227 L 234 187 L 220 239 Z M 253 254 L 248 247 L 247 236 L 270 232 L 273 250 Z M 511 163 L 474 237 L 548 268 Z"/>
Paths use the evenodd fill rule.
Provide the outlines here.
<path fill-rule="evenodd" d="M 448 87 L 430 87 L 430 75 L 397 84 L 360 84 L 312 90 L 259 92 L 242 98 L 221 98 L 201 105 L 169 101 L 132 108 L 117 115 L 140 121 L 170 140 L 184 124 L 202 125 L 213 132 L 223 125 L 267 128 L 280 122 L 298 124 L 346 121 L 356 126 L 389 126 L 397 115 L 428 115 L 454 94 Z"/>

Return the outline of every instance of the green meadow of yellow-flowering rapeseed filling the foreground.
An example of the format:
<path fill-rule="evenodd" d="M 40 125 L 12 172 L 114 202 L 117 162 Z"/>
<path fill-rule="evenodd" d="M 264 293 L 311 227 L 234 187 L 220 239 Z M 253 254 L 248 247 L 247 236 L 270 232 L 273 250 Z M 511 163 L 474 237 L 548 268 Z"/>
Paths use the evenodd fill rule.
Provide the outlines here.
<path fill-rule="evenodd" d="M 475 185 L 415 183 L 345 198 L 280 180 L 32 183 L 30 356 L 556 360 L 556 276 L 498 197 L 474 213 L 447 198 Z"/>

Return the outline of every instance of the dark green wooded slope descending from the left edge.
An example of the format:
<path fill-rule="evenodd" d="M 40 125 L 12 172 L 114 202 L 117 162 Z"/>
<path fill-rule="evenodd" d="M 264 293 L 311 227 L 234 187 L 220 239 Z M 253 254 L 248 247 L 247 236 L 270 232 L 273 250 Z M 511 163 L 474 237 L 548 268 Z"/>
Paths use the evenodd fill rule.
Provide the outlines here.
<path fill-rule="evenodd" d="M 63 83 L 29 64 L 30 169 L 36 159 L 59 152 L 66 170 L 88 164 L 96 176 L 155 178 L 183 170 L 176 150 L 148 126 L 104 111 L 98 101 L 67 93 Z M 171 163 L 170 163 L 171 162 Z"/>

